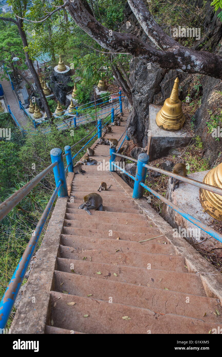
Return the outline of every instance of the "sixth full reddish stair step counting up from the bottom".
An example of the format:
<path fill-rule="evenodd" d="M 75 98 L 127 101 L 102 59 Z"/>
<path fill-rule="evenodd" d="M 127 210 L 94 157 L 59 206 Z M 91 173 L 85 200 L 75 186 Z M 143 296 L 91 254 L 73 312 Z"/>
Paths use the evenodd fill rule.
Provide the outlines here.
<path fill-rule="evenodd" d="M 87 213 L 85 212 L 87 215 Z M 79 228 L 79 227 L 63 227 L 62 228 L 62 233 L 64 234 L 71 234 L 74 236 L 80 235 L 81 236 L 86 236 L 86 237 L 91 237 L 91 238 L 109 238 L 111 237 L 112 239 L 120 238 L 122 240 L 130 240 L 130 241 L 142 241 L 145 239 L 157 237 L 160 235 L 159 231 L 157 228 L 152 228 L 152 231 L 147 232 L 147 233 L 136 233 L 135 231 L 131 232 L 120 232 L 120 231 L 113 231 L 110 232 L 110 229 L 105 231 L 105 230 L 99 230 L 99 229 L 91 229 L 91 228 Z M 112 236 L 110 234 L 112 233 Z"/>

